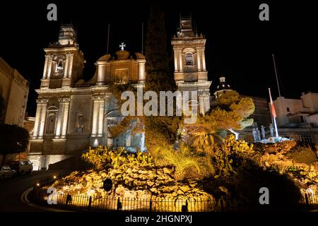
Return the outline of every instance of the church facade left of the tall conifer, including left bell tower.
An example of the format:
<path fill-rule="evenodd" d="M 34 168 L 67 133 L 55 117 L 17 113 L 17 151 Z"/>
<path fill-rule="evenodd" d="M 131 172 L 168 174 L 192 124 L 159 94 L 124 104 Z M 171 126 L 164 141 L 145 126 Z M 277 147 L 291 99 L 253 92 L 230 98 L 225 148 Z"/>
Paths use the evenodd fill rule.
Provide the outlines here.
<path fill-rule="evenodd" d="M 143 86 L 146 59 L 125 50 L 96 61 L 90 81 L 83 80 L 85 59 L 72 25 L 63 25 L 58 42 L 45 48 L 45 66 L 36 90 L 37 111 L 29 159 L 35 169 L 47 168 L 81 153 L 89 146 L 139 147 L 143 137 L 126 132 L 112 137 L 109 127 L 119 123 L 117 101 L 110 91 L 114 81 Z"/>

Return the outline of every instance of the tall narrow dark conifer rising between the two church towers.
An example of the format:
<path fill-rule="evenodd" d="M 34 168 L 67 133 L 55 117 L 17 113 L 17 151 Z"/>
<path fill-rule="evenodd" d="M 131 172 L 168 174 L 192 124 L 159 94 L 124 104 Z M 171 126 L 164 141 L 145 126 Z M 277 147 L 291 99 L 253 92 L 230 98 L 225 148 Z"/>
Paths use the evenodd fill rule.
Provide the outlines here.
<path fill-rule="evenodd" d="M 146 35 L 146 88 L 159 96 L 159 91 L 176 90 L 175 81 L 169 69 L 167 54 L 167 32 L 165 32 L 165 13 L 158 3 L 151 6 Z M 157 145 L 171 144 L 176 140 L 179 117 L 145 117 L 146 147 L 148 150 Z"/>

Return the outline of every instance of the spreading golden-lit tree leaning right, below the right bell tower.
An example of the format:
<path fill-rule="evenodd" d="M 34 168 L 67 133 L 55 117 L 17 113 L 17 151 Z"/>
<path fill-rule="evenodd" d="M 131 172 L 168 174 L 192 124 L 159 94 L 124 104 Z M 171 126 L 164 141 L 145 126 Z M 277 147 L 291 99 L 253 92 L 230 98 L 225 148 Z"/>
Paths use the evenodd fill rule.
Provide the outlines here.
<path fill-rule="evenodd" d="M 252 98 L 240 97 L 236 91 L 230 90 L 218 97 L 213 109 L 199 116 L 195 124 L 182 126 L 192 137 L 192 146 L 196 150 L 213 155 L 216 141 L 222 140 L 220 133 L 252 125 L 253 119 L 248 117 L 253 114 L 254 108 Z"/>

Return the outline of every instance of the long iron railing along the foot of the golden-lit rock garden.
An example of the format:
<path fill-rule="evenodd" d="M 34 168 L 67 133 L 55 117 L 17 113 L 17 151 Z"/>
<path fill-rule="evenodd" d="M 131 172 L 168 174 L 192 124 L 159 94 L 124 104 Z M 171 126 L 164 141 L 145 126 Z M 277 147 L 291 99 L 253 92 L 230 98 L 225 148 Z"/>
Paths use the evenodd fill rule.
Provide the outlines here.
<path fill-rule="evenodd" d="M 40 195 L 41 196 L 41 195 Z M 165 198 L 120 198 L 106 196 L 94 198 L 92 196 L 70 195 L 63 193 L 51 194 L 42 201 L 49 199 L 60 208 L 81 210 L 126 210 L 137 212 L 219 212 L 223 210 L 223 201 L 210 199 L 172 200 Z M 54 205 L 55 206 L 55 205 Z"/>

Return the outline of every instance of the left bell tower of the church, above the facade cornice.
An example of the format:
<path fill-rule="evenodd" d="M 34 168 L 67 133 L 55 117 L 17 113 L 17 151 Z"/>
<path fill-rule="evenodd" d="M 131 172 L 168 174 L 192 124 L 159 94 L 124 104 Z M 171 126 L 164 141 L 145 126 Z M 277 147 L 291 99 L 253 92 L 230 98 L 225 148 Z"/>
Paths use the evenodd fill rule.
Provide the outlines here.
<path fill-rule="evenodd" d="M 68 88 L 83 76 L 85 59 L 73 25 L 61 25 L 59 40 L 45 48 L 41 89 Z"/>

